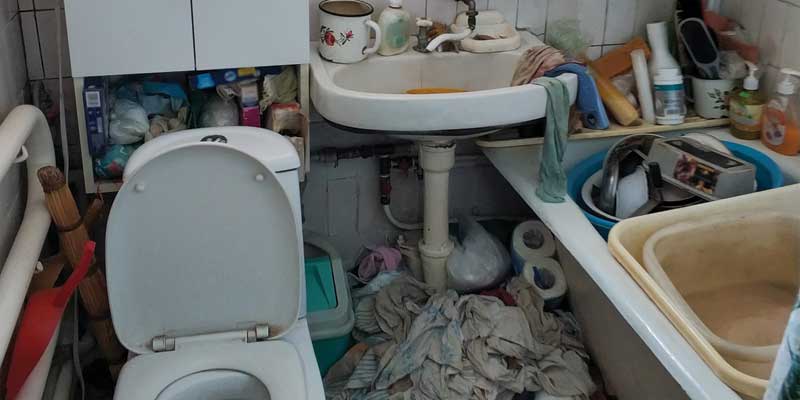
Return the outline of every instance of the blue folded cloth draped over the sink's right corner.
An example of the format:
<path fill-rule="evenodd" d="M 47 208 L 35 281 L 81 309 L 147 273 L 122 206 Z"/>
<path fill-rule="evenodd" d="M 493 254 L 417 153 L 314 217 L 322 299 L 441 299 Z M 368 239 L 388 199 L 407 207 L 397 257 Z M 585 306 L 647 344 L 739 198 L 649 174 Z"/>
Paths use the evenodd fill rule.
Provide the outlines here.
<path fill-rule="evenodd" d="M 603 106 L 600 93 L 597 92 L 594 78 L 589 75 L 586 67 L 577 63 L 566 63 L 545 72 L 544 76 L 555 78 L 565 73 L 578 76 L 577 106 L 581 112 L 583 126 L 589 129 L 608 129 L 606 108 Z"/>

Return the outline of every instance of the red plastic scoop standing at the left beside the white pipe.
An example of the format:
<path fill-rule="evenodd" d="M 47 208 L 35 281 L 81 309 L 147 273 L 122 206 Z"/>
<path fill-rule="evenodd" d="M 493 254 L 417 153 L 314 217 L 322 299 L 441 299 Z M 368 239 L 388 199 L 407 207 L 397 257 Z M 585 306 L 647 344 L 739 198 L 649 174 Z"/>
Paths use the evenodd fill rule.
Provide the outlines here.
<path fill-rule="evenodd" d="M 6 385 L 9 400 L 17 397 L 25 380 L 28 379 L 28 375 L 47 349 L 47 345 L 61 321 L 61 315 L 64 314 L 67 301 L 89 270 L 95 247 L 95 242 L 86 242 L 78 267 L 72 271 L 64 285 L 40 290 L 28 299 L 28 305 L 25 307 L 17 332 L 14 350 L 11 353 Z"/>

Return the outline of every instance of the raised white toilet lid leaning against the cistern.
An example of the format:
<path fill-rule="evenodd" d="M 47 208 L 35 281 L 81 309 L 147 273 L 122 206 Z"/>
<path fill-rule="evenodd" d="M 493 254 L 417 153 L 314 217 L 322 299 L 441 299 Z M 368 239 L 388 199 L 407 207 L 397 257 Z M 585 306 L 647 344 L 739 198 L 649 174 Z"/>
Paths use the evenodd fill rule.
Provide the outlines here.
<path fill-rule="evenodd" d="M 127 177 L 109 216 L 106 273 L 120 341 L 141 354 L 161 335 L 266 324 L 281 336 L 300 311 L 302 237 L 278 177 L 230 144 L 159 152 Z"/>

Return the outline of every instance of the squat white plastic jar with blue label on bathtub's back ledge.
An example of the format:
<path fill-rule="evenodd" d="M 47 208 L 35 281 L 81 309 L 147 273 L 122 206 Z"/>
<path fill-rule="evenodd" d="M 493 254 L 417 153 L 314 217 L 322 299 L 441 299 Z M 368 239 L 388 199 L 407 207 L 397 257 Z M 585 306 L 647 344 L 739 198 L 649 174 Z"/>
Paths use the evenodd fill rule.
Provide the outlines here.
<path fill-rule="evenodd" d="M 686 118 L 686 94 L 680 69 L 659 69 L 653 77 L 656 123 L 682 124 Z"/>

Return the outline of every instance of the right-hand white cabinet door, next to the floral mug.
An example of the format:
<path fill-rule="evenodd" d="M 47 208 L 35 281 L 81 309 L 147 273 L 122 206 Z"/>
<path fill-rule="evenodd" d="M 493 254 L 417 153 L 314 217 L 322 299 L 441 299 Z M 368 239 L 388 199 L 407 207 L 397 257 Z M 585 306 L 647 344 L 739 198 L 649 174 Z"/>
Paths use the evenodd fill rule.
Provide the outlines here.
<path fill-rule="evenodd" d="M 308 1 L 193 0 L 197 69 L 308 64 Z"/>

